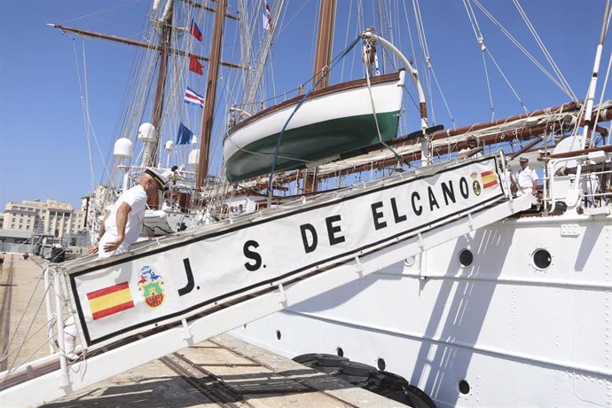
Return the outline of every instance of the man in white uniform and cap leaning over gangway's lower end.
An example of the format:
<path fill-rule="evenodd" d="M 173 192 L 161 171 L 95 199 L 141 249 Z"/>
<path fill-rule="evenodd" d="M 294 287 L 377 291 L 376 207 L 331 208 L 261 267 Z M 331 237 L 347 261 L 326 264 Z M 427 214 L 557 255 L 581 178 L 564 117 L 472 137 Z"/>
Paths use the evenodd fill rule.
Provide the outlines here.
<path fill-rule="evenodd" d="M 166 183 L 171 170 L 145 169 L 140 183 L 123 192 L 114 203 L 111 212 L 100 225 L 100 239 L 89 248 L 90 254 L 98 253 L 100 258 L 129 251 L 143 229 L 146 199 L 153 197 Z"/>

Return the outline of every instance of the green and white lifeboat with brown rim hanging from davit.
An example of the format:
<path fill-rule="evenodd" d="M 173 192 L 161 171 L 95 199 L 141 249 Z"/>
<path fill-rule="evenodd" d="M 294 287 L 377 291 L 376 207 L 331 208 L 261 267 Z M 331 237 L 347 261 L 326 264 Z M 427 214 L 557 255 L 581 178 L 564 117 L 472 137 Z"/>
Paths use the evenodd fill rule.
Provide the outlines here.
<path fill-rule="evenodd" d="M 404 76 L 402 69 L 370 78 L 369 87 L 360 79 L 313 91 L 286 125 L 275 171 L 332 161 L 342 153 L 396 137 Z M 228 180 L 270 173 L 280 132 L 301 99 L 271 106 L 229 129 L 224 138 Z"/>

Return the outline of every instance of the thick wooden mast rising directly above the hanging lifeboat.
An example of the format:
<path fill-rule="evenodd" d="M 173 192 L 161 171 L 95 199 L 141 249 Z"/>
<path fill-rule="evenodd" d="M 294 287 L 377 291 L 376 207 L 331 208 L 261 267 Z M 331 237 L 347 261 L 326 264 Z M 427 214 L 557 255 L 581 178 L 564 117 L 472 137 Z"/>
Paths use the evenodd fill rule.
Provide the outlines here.
<path fill-rule="evenodd" d="M 329 70 L 329 61 L 332 59 L 333 22 L 335 20 L 336 1 L 321 0 L 321 15 L 318 19 L 318 37 L 315 54 L 315 67 L 312 83 L 315 84 Z M 317 90 L 325 88 L 329 82 L 326 76 L 318 84 Z"/>

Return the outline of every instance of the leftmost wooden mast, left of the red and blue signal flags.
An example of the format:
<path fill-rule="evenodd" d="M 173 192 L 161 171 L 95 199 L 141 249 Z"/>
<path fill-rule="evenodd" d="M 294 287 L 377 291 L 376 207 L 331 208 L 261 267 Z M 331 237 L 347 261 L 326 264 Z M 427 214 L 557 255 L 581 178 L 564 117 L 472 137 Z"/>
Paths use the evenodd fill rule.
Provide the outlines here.
<path fill-rule="evenodd" d="M 157 129 L 155 138 L 151 142 L 149 147 L 149 156 L 145 157 L 146 161 L 143 163 L 146 167 L 155 166 L 157 161 L 157 145 L 160 143 L 161 133 L 161 111 L 163 110 L 163 99 L 166 90 L 166 71 L 168 69 L 169 59 L 169 48 L 170 41 L 172 40 L 172 17 L 174 16 L 173 4 L 169 7 L 168 15 L 164 16 L 165 19 L 161 20 L 161 43 L 160 43 L 160 69 L 157 75 L 157 88 L 155 90 L 155 102 L 153 103 L 153 128 Z"/>

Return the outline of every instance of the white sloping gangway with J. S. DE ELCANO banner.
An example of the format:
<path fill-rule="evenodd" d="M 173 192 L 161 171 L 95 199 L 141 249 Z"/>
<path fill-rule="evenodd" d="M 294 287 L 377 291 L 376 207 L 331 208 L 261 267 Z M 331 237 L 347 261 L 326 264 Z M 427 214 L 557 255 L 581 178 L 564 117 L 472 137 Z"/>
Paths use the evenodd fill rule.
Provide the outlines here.
<path fill-rule="evenodd" d="M 52 266 L 49 313 L 63 344 L 66 287 L 79 358 L 59 352 L 0 373 L 0 406 L 51 402 L 530 208 L 497 159 L 415 169 Z"/>

